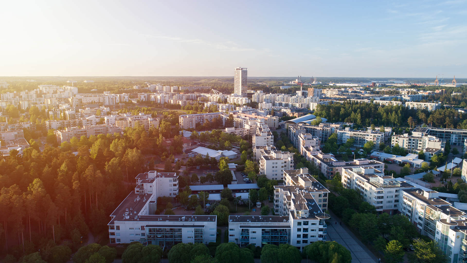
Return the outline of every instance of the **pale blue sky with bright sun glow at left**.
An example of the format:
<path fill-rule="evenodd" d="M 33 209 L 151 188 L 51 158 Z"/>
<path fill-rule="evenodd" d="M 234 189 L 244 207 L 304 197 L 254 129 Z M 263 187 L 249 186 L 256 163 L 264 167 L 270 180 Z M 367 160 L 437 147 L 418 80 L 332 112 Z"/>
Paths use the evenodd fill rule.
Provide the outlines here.
<path fill-rule="evenodd" d="M 467 77 L 467 0 L 4 1 L 0 76 Z"/>

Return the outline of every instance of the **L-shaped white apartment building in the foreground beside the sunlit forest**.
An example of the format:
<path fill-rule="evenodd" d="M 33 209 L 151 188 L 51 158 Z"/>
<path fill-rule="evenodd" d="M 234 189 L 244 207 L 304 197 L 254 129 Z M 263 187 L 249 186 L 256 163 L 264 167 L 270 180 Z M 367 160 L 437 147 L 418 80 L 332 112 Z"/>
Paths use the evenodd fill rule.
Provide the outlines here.
<path fill-rule="evenodd" d="M 130 243 L 172 247 L 177 243 L 215 242 L 217 217 L 156 215 L 157 197 L 178 194 L 175 173 L 148 173 L 136 176 L 138 185 L 110 215 L 110 243 Z"/>

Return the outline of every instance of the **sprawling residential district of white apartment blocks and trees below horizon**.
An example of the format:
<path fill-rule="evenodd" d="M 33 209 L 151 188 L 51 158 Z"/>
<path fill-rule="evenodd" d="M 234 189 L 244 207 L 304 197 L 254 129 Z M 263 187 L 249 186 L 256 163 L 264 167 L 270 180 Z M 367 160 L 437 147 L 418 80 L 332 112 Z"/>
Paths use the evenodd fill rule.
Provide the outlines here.
<path fill-rule="evenodd" d="M 114 249 L 108 262 L 135 244 L 183 262 L 171 252 L 181 243 L 218 260 L 234 244 L 248 262 L 287 244 L 298 262 L 328 262 L 319 241 L 341 246 L 333 262 L 398 262 L 425 248 L 429 262 L 467 261 L 467 104 L 455 79 L 298 76 L 269 93 L 237 67 L 232 94 L 149 82 L 80 93 L 75 83 L 0 83 L 5 260 L 41 248 L 52 261 L 62 240 L 75 262 L 105 248 L 94 241 Z"/>

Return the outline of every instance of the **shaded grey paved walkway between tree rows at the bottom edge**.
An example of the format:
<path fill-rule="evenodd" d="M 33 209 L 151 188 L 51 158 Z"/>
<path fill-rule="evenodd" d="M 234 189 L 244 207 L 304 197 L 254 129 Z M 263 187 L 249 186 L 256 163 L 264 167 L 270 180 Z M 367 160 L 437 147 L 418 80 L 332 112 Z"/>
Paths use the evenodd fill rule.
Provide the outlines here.
<path fill-rule="evenodd" d="M 328 240 L 336 241 L 350 250 L 352 263 L 376 263 L 377 259 L 375 256 L 358 240 L 354 233 L 344 224 L 340 225 L 340 221 L 335 224 L 335 219 L 338 219 L 338 217 L 329 210 L 328 213 L 331 215 L 330 223 L 327 225 Z"/>

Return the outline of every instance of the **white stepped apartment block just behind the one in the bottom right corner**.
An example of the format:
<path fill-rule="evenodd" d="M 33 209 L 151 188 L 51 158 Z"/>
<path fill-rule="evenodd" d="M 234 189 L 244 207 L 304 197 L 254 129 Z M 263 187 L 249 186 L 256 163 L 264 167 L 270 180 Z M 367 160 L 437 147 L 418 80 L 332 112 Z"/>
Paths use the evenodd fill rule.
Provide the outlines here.
<path fill-rule="evenodd" d="M 396 180 L 373 167 L 363 166 L 343 169 L 341 182 L 345 188 L 357 190 L 378 213 L 392 215 L 399 210 L 401 190 L 412 187 L 398 179 L 401 178 Z"/>

